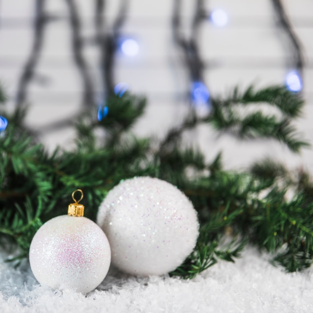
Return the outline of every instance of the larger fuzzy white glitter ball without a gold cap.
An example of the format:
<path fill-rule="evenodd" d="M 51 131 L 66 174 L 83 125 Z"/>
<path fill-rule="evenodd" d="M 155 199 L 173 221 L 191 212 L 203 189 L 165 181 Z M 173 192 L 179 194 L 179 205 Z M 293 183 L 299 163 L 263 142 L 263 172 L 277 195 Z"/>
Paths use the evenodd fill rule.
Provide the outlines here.
<path fill-rule="evenodd" d="M 112 263 L 136 275 L 161 275 L 192 252 L 197 214 L 172 184 L 151 177 L 120 182 L 101 203 L 97 223 L 107 235 Z"/>

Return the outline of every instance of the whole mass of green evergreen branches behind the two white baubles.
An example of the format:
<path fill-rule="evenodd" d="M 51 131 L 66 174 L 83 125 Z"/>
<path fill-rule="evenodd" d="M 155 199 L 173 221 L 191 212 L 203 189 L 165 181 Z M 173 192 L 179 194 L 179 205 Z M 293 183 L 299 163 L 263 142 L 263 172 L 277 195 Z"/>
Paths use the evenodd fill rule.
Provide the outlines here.
<path fill-rule="evenodd" d="M 244 105 L 251 98 L 255 103 L 258 97 L 265 98 L 254 91 L 233 94 L 237 104 L 245 99 Z M 0 136 L 0 241 L 4 237 L 14 240 L 21 255 L 26 255 L 41 223 L 64 214 L 73 188 L 83 188 L 83 202 L 89 208 L 86 215 L 94 220 L 103 197 L 120 179 L 150 175 L 174 183 L 198 212 L 196 247 L 171 275 L 190 278 L 218 259 L 233 261 L 247 240 L 274 253 L 273 262 L 287 270 L 309 266 L 313 259 L 313 183 L 307 173 L 290 174 L 269 159 L 258 162 L 251 171 L 225 171 L 221 153 L 206 163 L 198 149 L 180 147 L 183 131 L 201 122 L 216 123 L 243 138 L 271 136 L 294 150 L 299 147 L 290 125 L 294 116 L 288 116 L 297 111 L 291 106 L 279 104 L 282 117 L 260 110 L 241 116 L 232 101 L 215 101 L 218 106 L 204 118 L 188 115 L 155 144 L 129 132 L 143 112 L 145 99 L 128 93 L 112 95 L 101 121 L 95 120 L 95 112 L 79 116 L 74 150 L 56 149 L 51 155 L 25 132 L 21 109 L 11 116 L 5 114 L 9 124 Z M 96 134 L 99 128 L 101 137 Z M 288 187 L 296 190 L 289 202 L 285 199 Z M 230 237 L 228 244 L 225 237 Z"/>

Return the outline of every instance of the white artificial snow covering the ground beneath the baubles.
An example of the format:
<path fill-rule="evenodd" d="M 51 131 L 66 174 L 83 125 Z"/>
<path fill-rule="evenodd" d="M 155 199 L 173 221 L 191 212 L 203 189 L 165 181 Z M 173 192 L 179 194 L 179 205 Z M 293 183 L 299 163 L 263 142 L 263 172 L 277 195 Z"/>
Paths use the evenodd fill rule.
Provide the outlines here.
<path fill-rule="evenodd" d="M 14 269 L 0 251 L 0 312 L 313 312 L 313 268 L 285 273 L 248 247 L 191 280 L 137 278 L 110 270 L 86 295 L 38 284 L 25 260 Z"/>

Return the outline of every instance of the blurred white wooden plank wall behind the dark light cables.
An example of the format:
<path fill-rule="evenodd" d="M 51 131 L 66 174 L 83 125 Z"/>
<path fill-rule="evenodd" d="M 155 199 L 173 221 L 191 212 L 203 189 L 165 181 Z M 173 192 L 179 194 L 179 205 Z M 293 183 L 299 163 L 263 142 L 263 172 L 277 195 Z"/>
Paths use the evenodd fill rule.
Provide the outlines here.
<path fill-rule="evenodd" d="M 108 24 L 113 20 L 117 0 L 107 0 Z M 183 15 L 185 35 L 188 36 L 190 17 L 195 0 L 185 0 Z M 297 126 L 313 144 L 313 1 L 284 0 L 295 32 L 303 44 L 305 56 L 303 95 L 306 100 L 303 118 Z M 76 0 L 83 19 L 83 35 L 94 33 L 94 1 Z M 155 134 L 161 137 L 170 125 L 186 113 L 187 102 L 178 95 L 187 90 L 186 68 L 172 41 L 171 0 L 130 0 L 128 17 L 122 28 L 125 34 L 134 35 L 140 52 L 134 58 L 119 57 L 116 80 L 127 82 L 130 90 L 145 94 L 148 107 L 134 131 L 139 135 Z M 274 13 L 269 0 L 207 0 L 206 8 L 220 7 L 228 12 L 227 26 L 218 28 L 209 22 L 201 24 L 200 53 L 210 64 L 205 82 L 212 95 L 226 94 L 233 86 L 242 88 L 255 83 L 264 86 L 283 83 L 290 51 L 281 39 L 282 30 L 275 26 Z M 33 0 L 0 0 L 0 81 L 10 96 L 13 107 L 17 82 L 28 57 L 32 38 Z M 80 106 L 82 81 L 72 59 L 70 27 L 64 0 L 48 0 L 47 11 L 65 16 L 49 23 L 42 55 L 36 75 L 45 83 L 32 80 L 29 85 L 30 109 L 27 122 L 40 129 L 50 121 L 72 116 Z M 100 81 L 99 55 L 92 45 L 84 47 L 84 55 L 91 68 L 92 79 Z M 178 118 L 177 118 L 178 117 Z M 55 145 L 70 147 L 73 132 L 56 130 L 45 133 L 42 140 L 52 149 Z M 226 167 L 242 167 L 252 159 L 264 155 L 275 156 L 291 167 L 304 166 L 313 172 L 312 149 L 303 150 L 300 156 L 272 141 L 241 142 L 233 137 L 217 134 L 207 126 L 199 126 L 186 136 L 186 142 L 196 141 L 212 159 L 219 150 L 224 151 Z"/>

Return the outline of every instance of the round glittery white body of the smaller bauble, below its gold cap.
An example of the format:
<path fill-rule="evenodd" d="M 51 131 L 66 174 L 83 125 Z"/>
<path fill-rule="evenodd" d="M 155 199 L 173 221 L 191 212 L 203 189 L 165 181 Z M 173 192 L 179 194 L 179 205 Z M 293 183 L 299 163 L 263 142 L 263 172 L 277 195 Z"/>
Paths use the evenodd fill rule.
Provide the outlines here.
<path fill-rule="evenodd" d="M 61 215 L 32 238 L 29 262 L 36 279 L 54 289 L 87 293 L 104 279 L 110 246 L 102 229 L 86 217 Z"/>

